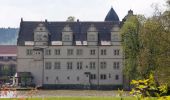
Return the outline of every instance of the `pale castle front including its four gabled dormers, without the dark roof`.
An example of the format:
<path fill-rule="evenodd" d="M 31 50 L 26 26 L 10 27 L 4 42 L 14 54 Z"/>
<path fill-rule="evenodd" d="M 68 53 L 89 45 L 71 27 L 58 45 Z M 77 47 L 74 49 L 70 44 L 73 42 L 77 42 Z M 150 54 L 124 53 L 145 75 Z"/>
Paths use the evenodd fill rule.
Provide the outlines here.
<path fill-rule="evenodd" d="M 31 72 L 33 83 L 44 85 L 123 85 L 123 51 L 119 26 L 109 30 L 110 41 L 99 40 L 91 24 L 87 40 L 75 41 L 69 25 L 61 40 L 49 41 L 50 31 L 42 23 L 34 29 L 34 41 L 18 45 L 18 72 Z"/>

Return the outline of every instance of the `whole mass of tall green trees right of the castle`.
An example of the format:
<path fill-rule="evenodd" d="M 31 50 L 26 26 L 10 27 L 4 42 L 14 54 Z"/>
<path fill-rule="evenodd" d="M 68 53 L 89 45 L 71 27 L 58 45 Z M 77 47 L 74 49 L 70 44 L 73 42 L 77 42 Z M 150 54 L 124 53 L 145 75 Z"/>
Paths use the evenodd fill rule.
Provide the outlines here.
<path fill-rule="evenodd" d="M 167 0 L 170 8 L 169 0 Z M 155 13 L 150 18 L 131 16 L 121 28 L 125 52 L 126 76 L 148 78 L 151 73 L 159 83 L 170 87 L 170 10 Z"/>

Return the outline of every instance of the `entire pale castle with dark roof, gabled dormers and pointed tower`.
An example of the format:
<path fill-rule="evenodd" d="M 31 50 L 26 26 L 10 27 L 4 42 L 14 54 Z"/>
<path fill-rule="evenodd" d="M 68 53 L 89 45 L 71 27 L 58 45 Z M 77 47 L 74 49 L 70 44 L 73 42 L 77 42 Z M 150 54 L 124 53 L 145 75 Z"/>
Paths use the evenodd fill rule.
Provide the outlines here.
<path fill-rule="evenodd" d="M 21 19 L 16 84 L 26 77 L 25 84 L 45 88 L 122 87 L 120 25 L 113 8 L 97 22 Z"/>

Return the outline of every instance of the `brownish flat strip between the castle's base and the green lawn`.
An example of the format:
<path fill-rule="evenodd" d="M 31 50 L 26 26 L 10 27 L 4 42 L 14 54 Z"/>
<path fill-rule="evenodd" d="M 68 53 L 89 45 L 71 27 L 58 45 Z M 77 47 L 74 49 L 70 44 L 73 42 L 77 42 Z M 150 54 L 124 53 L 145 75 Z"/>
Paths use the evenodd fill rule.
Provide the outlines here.
<path fill-rule="evenodd" d="M 129 92 L 124 92 L 123 95 L 127 96 Z M 33 97 L 63 97 L 63 96 L 117 96 L 118 91 L 97 91 L 97 90 L 38 90 L 37 92 L 30 91 L 17 91 L 18 96 L 28 96 Z"/>

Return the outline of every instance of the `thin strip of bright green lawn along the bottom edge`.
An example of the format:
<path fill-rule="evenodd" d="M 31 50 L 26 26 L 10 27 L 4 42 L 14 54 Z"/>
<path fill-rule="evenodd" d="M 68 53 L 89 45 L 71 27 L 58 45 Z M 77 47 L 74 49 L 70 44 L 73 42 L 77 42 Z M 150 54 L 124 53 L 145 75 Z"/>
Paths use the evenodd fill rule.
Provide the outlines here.
<path fill-rule="evenodd" d="M 44 98 L 18 98 L 0 100 L 121 100 L 119 97 L 44 97 Z M 137 100 L 135 97 L 124 97 L 122 100 Z M 157 98 L 145 98 L 144 100 L 158 100 Z M 170 100 L 170 96 L 159 100 Z"/>

